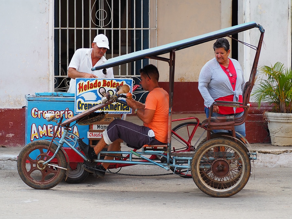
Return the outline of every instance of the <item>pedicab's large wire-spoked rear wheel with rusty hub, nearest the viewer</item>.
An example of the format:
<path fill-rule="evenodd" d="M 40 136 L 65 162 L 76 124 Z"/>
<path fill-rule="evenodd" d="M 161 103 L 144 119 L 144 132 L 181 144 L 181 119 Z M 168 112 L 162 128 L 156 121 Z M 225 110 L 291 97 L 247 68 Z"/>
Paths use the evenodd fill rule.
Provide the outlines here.
<path fill-rule="evenodd" d="M 191 162 L 196 186 L 213 197 L 235 195 L 249 180 L 249 155 L 237 142 L 215 138 L 201 144 Z"/>

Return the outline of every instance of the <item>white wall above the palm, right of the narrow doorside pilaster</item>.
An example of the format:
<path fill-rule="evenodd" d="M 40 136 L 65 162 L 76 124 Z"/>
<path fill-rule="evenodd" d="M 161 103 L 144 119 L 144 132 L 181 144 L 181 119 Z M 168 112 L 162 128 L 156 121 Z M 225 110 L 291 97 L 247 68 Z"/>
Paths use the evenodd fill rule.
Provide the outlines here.
<path fill-rule="evenodd" d="M 291 66 L 291 0 L 250 1 L 250 15 L 265 29 L 259 64 Z"/>

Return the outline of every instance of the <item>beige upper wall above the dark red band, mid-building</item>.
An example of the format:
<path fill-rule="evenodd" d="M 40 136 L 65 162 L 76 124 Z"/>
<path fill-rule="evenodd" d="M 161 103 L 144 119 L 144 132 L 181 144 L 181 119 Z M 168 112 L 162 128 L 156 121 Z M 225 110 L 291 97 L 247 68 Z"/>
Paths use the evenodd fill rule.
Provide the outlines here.
<path fill-rule="evenodd" d="M 221 4 L 228 5 L 221 16 Z M 222 19 L 221 19 L 222 17 Z M 219 18 L 219 19 L 218 19 Z M 157 11 L 158 46 L 231 26 L 231 0 L 180 1 L 159 0 Z M 214 42 L 203 43 L 176 52 L 176 82 L 197 82 L 203 65 L 214 57 Z M 168 81 L 168 66 L 158 62 L 161 81 Z"/>

